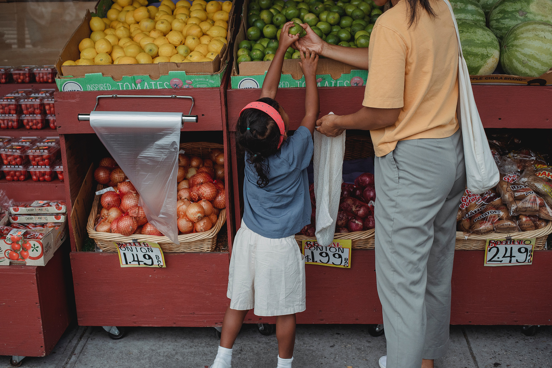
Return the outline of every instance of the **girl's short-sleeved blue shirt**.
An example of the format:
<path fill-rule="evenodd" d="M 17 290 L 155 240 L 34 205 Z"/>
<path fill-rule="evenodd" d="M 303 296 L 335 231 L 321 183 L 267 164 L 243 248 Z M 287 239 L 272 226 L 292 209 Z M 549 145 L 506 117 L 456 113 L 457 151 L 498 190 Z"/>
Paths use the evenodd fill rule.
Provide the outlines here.
<path fill-rule="evenodd" d="M 300 126 L 288 137 L 280 151 L 264 160 L 270 172 L 264 188 L 257 185 L 255 167 L 245 157 L 243 181 L 243 222 L 266 238 L 285 238 L 311 222 L 311 202 L 307 166 L 314 146 L 312 135 Z"/>

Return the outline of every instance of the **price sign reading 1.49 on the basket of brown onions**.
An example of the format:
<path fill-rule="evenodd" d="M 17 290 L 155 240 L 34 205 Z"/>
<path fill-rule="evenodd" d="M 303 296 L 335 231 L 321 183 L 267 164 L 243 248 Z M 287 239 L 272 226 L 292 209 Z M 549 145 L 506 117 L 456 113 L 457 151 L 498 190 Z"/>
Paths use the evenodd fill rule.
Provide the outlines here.
<path fill-rule="evenodd" d="M 121 267 L 166 267 L 163 251 L 157 243 L 115 243 Z"/>

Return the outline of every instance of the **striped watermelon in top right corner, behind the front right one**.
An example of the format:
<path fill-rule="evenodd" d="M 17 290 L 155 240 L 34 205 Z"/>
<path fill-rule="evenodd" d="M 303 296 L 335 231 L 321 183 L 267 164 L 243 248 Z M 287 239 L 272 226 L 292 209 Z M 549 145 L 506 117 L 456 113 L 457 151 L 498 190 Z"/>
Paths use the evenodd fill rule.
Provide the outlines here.
<path fill-rule="evenodd" d="M 529 20 L 552 23 L 552 0 L 500 0 L 489 13 L 489 28 L 501 41 L 510 28 Z"/>

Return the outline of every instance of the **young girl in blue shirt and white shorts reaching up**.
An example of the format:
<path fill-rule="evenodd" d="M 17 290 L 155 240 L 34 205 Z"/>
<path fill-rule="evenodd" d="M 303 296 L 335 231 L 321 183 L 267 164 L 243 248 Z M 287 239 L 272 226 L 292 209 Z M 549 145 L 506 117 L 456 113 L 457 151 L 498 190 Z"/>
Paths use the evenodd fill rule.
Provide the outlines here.
<path fill-rule="evenodd" d="M 310 223 L 307 166 L 319 115 L 318 55 L 308 49 L 299 65 L 305 75 L 305 118 L 288 137 L 289 117 L 276 100 L 284 55 L 298 36 L 282 28 L 278 50 L 264 78 L 261 98 L 245 106 L 237 144 L 245 151 L 243 218 L 233 242 L 219 351 L 211 368 L 230 368 L 232 346 L 247 312 L 276 316 L 278 368 L 291 368 L 295 313 L 305 310 L 305 263 L 295 233 Z"/>

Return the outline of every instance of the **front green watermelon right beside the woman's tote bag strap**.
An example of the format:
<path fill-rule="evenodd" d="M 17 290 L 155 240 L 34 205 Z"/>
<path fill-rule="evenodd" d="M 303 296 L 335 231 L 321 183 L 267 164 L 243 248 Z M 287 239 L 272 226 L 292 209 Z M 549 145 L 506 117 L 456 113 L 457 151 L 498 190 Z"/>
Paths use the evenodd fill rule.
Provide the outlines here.
<path fill-rule="evenodd" d="M 462 53 L 470 75 L 492 74 L 498 65 L 500 45 L 489 28 L 473 20 L 458 19 Z"/>

